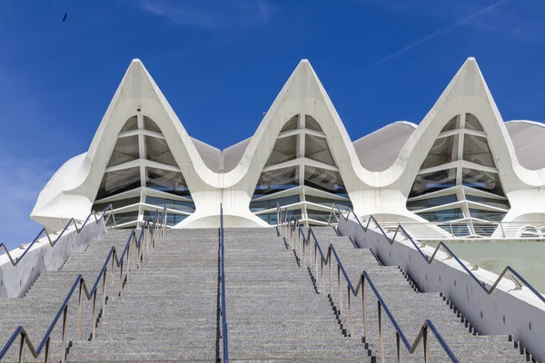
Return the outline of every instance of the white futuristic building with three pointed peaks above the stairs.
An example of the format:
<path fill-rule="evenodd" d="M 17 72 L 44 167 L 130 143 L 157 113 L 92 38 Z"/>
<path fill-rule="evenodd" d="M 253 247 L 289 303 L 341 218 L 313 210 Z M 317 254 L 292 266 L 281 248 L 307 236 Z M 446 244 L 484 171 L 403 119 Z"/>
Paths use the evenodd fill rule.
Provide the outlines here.
<path fill-rule="evenodd" d="M 325 224 L 332 202 L 381 221 L 543 221 L 545 125 L 504 123 L 473 58 L 419 125 L 391 123 L 352 142 L 303 60 L 253 137 L 218 150 L 183 128 L 139 60 L 89 150 L 54 174 L 31 218 L 52 230 L 114 206 L 134 227 L 168 206 L 175 228 L 276 223 L 276 204 Z M 458 226 L 455 233 L 474 233 Z"/>

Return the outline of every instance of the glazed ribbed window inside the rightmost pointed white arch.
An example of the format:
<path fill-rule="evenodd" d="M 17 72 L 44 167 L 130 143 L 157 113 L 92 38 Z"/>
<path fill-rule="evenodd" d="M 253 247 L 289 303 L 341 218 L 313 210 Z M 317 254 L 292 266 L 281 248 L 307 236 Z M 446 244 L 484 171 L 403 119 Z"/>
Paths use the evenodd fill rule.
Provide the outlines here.
<path fill-rule="evenodd" d="M 406 206 L 433 222 L 501 221 L 509 212 L 488 135 L 475 115 L 456 115 L 441 129 L 421 164 Z M 491 234 L 472 223 L 458 225 L 452 232 Z"/>

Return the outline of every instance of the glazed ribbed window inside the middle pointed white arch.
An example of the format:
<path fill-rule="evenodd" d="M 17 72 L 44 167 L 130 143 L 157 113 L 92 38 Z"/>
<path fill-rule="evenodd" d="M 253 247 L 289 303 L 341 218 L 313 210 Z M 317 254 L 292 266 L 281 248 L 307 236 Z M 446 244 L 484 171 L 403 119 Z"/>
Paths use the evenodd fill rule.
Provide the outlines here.
<path fill-rule="evenodd" d="M 333 202 L 352 207 L 322 128 L 311 115 L 297 114 L 276 139 L 253 191 L 250 210 L 276 224 L 278 203 L 302 223 L 322 225 L 328 221 Z"/>

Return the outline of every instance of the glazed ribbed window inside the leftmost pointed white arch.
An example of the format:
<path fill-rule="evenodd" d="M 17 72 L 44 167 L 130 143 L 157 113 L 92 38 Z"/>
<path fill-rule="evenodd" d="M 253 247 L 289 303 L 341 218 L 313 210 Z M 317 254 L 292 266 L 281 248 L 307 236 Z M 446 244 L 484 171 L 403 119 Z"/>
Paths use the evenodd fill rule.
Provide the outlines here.
<path fill-rule="evenodd" d="M 135 126 L 135 127 L 134 127 Z M 129 118 L 94 197 L 94 209 L 112 203 L 118 227 L 140 227 L 157 208 L 167 206 L 167 224 L 183 221 L 195 206 L 183 173 L 161 128 L 145 115 Z"/>

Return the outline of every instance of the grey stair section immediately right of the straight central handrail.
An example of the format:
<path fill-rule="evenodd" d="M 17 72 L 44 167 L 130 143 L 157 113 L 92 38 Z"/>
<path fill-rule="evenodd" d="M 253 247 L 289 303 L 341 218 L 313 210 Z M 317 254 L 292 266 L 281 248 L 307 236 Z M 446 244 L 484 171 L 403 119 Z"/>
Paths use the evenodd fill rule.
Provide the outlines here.
<path fill-rule="evenodd" d="M 365 362 L 361 340 L 345 338 L 274 229 L 224 230 L 229 357 L 232 361 Z"/>

